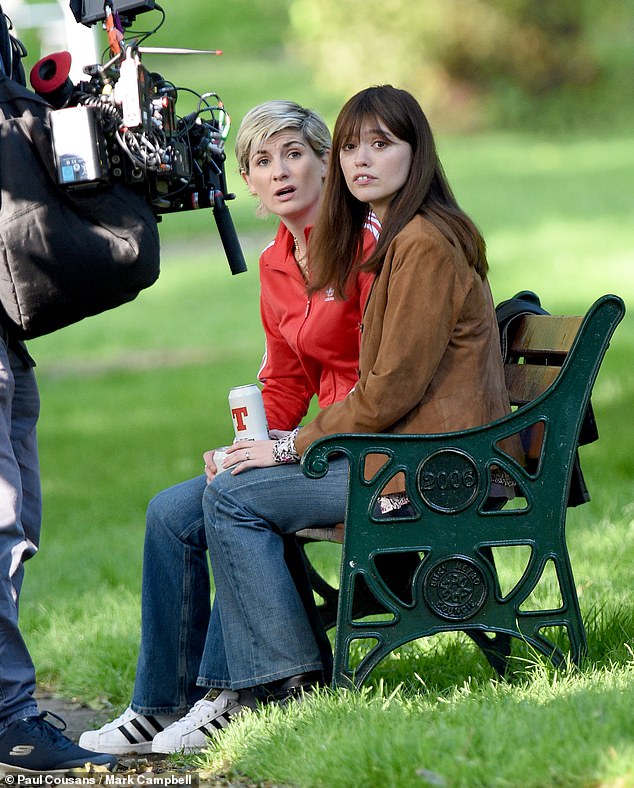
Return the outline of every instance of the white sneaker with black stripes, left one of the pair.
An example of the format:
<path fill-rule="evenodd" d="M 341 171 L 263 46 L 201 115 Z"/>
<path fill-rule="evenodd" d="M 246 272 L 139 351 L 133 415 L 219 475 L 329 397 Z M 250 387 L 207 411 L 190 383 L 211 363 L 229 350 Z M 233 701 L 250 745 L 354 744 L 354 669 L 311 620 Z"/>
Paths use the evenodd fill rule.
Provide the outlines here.
<path fill-rule="evenodd" d="M 152 752 L 157 733 L 179 719 L 177 714 L 138 714 L 129 706 L 120 717 L 96 731 L 84 731 L 79 746 L 111 755 Z"/>

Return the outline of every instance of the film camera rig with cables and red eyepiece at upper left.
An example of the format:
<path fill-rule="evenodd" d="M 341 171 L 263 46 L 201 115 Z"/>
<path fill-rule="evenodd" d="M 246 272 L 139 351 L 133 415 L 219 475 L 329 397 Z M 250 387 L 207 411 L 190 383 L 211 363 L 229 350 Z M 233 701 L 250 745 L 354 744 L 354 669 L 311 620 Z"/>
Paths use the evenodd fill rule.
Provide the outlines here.
<path fill-rule="evenodd" d="M 126 40 L 136 15 L 156 10 L 155 0 L 70 0 L 78 23 L 102 22 L 110 59 L 86 66 L 86 81 L 69 79 L 68 52 L 50 55 L 31 69 L 33 89 L 53 107 L 51 131 L 61 185 L 89 188 L 123 181 L 138 187 L 160 220 L 161 214 L 211 208 L 233 274 L 246 263 L 226 201 L 225 141 L 230 118 L 213 92 L 198 96 L 196 109 L 176 113 L 179 88 L 142 64 L 144 53 L 222 54 L 219 50 L 149 48 Z"/>

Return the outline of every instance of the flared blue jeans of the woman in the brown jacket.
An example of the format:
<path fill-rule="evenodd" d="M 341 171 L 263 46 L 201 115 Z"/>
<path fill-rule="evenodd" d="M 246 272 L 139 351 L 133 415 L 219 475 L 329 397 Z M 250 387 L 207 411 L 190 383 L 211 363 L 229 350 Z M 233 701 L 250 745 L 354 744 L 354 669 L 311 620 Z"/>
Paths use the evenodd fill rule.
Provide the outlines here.
<path fill-rule="evenodd" d="M 345 514 L 348 463 L 321 479 L 298 465 L 223 473 L 203 496 L 220 630 L 211 686 L 233 690 L 322 669 L 319 645 L 284 557 L 285 534 Z"/>

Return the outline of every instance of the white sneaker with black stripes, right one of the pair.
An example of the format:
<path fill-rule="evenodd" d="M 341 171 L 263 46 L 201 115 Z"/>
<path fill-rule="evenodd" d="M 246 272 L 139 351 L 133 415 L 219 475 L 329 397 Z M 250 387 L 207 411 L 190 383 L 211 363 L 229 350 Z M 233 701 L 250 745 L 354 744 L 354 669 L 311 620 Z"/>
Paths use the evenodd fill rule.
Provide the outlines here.
<path fill-rule="evenodd" d="M 152 752 L 200 752 L 245 708 L 239 692 L 211 690 L 182 719 L 154 737 Z"/>

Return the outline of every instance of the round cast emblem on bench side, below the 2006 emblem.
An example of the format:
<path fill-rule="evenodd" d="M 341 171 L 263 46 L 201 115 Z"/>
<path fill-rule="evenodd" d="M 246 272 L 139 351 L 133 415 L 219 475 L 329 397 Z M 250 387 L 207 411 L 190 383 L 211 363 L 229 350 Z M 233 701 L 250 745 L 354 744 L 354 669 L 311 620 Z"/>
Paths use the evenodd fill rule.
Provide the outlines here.
<path fill-rule="evenodd" d="M 484 574 L 475 561 L 455 555 L 431 567 L 425 576 L 423 593 L 436 615 L 464 621 L 480 610 L 488 592 Z"/>

